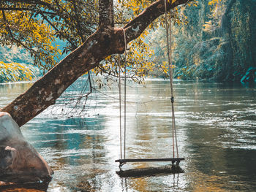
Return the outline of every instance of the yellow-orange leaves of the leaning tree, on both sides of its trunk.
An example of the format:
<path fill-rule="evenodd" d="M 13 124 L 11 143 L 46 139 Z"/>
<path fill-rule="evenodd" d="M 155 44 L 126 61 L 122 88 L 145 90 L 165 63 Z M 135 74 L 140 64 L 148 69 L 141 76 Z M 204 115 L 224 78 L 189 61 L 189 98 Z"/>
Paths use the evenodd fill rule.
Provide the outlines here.
<path fill-rule="evenodd" d="M 128 23 L 152 2 L 154 1 L 118 0 L 115 4 L 116 26 Z M 172 15 L 177 23 L 181 23 L 183 18 L 178 17 L 178 9 Z M 46 71 L 57 63 L 61 54 L 80 46 L 97 30 L 99 23 L 98 1 L 94 0 L 4 0 L 0 3 L 0 10 L 1 45 L 24 47 L 34 58 L 34 65 Z M 154 50 L 145 38 L 151 29 L 164 25 L 164 19 L 160 17 L 138 39 L 129 43 L 127 66 L 132 80 L 141 82 L 154 69 L 151 62 Z M 59 40 L 67 44 L 63 50 L 56 43 Z M 117 61 L 118 56 L 112 55 L 99 64 L 94 72 L 105 74 L 105 77 L 116 77 Z"/>

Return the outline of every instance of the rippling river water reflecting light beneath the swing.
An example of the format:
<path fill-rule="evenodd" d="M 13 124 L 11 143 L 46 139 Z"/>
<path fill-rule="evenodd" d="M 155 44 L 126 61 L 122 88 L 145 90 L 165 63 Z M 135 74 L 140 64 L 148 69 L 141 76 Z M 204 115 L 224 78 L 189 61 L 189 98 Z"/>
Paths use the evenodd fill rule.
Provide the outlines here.
<path fill-rule="evenodd" d="M 37 191 L 256 191 L 255 85 L 175 81 L 184 173 L 124 178 L 116 174 L 115 163 L 120 155 L 118 89 L 114 85 L 102 93 L 93 91 L 86 105 L 82 99 L 74 108 L 67 98 L 80 96 L 76 88 L 83 82 L 78 80 L 54 107 L 21 128 L 55 172 L 48 187 Z M 30 86 L 0 84 L 0 107 Z M 169 87 L 161 79 L 127 87 L 127 158 L 172 156 Z M 166 165 L 132 163 L 123 169 Z M 36 191 L 33 188 L 1 190 Z"/>

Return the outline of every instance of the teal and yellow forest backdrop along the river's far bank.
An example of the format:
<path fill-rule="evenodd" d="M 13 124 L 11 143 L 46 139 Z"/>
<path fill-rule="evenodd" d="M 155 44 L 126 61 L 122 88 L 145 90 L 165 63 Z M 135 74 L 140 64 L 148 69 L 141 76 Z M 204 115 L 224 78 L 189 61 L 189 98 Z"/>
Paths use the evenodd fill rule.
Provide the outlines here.
<path fill-rule="evenodd" d="M 151 1 L 120 1 L 115 7 L 116 25 L 127 23 L 150 3 Z M 254 81 L 255 3 L 255 0 L 201 0 L 193 1 L 190 6 L 178 7 L 172 15 L 172 50 L 176 78 Z M 85 7 L 89 9 L 91 5 L 94 5 L 95 10 L 88 10 L 91 17 L 87 17 L 84 22 L 88 24 L 86 27 L 88 31 L 83 33 L 83 36 L 79 31 L 72 34 L 72 29 L 75 27 L 69 24 L 67 28 L 65 22 L 68 21 L 62 20 L 57 26 L 57 31 L 53 26 L 46 27 L 43 22 L 47 19 L 44 18 L 45 15 L 38 14 L 31 17 L 26 12 L 15 11 L 13 16 L 7 12 L 3 15 L 1 12 L 0 82 L 32 80 L 51 69 L 67 53 L 75 50 L 95 31 L 98 8 L 95 2 Z M 4 6 L 6 4 L 1 3 L 1 7 Z M 75 17 L 75 14 L 73 16 Z M 24 23 L 24 26 L 21 26 L 23 32 L 16 33 L 15 30 L 19 29 L 15 26 L 21 25 L 23 20 L 29 20 L 29 25 Z M 41 23 L 38 25 L 39 21 Z M 32 27 L 35 24 L 37 26 Z M 135 81 L 141 82 L 148 75 L 167 76 L 164 26 L 163 18 L 159 18 L 139 39 L 130 43 L 127 61 L 130 66 L 129 73 L 134 74 Z M 51 32 L 45 31 L 50 29 Z M 28 34 L 29 39 L 26 38 Z M 94 69 L 94 72 L 116 76 L 116 61 L 116 55 L 106 58 L 97 69 Z"/>

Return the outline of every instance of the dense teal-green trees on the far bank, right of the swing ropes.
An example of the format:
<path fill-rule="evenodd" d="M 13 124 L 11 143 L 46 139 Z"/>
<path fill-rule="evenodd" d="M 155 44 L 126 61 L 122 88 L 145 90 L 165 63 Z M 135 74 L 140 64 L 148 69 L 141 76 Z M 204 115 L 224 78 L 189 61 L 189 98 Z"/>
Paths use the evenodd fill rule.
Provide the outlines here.
<path fill-rule="evenodd" d="M 176 26 L 177 77 L 252 80 L 256 67 L 256 1 L 222 0 L 186 7 L 187 25 Z M 256 76 L 256 75 L 255 75 Z"/>

